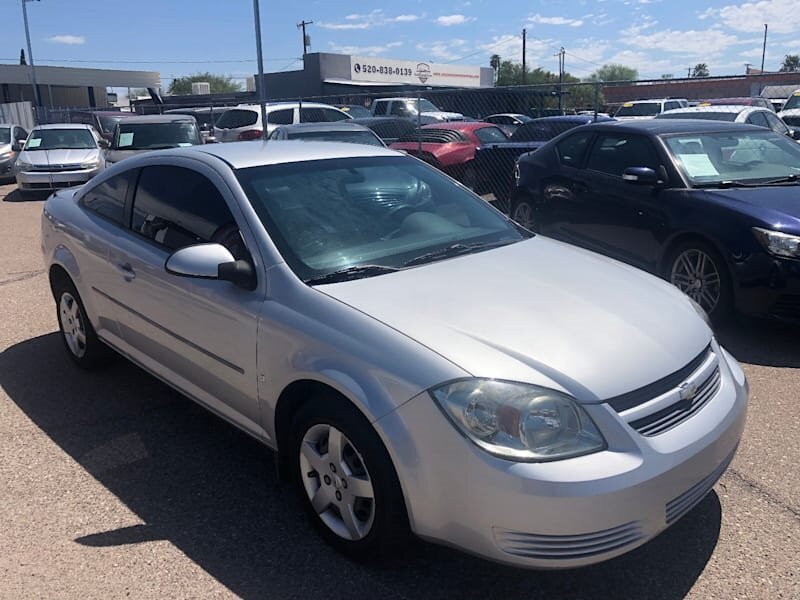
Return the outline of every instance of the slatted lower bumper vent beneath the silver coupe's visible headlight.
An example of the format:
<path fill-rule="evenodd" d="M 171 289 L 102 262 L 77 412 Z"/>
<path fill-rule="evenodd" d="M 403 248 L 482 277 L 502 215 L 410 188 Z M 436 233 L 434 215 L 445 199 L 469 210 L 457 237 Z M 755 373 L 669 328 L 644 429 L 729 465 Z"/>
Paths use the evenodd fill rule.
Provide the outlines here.
<path fill-rule="evenodd" d="M 591 533 L 543 535 L 494 528 L 497 547 L 507 554 L 546 560 L 586 558 L 618 550 L 644 537 L 639 521 Z"/>

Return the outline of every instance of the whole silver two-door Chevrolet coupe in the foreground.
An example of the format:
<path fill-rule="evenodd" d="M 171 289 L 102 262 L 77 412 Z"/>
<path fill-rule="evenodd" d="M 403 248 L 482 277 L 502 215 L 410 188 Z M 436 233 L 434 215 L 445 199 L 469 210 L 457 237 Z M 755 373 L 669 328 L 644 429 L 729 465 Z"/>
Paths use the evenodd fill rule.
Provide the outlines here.
<path fill-rule="evenodd" d="M 680 291 L 385 148 L 132 157 L 54 194 L 42 247 L 77 365 L 113 348 L 275 450 L 355 557 L 413 532 L 600 562 L 695 506 L 742 435 L 744 374 Z"/>

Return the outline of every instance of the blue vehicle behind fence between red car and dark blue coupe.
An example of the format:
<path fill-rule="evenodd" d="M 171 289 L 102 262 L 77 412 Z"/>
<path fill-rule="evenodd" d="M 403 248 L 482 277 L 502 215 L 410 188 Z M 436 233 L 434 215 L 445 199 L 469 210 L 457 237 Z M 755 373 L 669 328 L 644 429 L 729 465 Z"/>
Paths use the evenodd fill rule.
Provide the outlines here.
<path fill-rule="evenodd" d="M 597 121 L 613 119 L 598 115 Z M 477 179 L 485 182 L 484 193 L 494 194 L 499 205 L 505 205 L 514 184 L 514 165 L 520 156 L 538 150 L 573 127 L 594 122 L 594 115 L 541 117 L 520 125 L 508 142 L 483 144 L 476 148 L 473 164 Z"/>

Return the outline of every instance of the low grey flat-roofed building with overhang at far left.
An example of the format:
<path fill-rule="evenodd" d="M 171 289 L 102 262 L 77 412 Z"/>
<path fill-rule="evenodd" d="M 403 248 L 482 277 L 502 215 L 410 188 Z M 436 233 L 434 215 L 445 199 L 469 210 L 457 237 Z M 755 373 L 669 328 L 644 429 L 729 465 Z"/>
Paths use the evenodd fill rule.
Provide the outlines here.
<path fill-rule="evenodd" d="M 36 83 L 43 106 L 103 108 L 109 105 L 108 88 L 157 88 L 161 75 L 154 71 L 37 66 Z M 24 101 L 34 101 L 30 66 L 0 65 L 0 103 Z"/>

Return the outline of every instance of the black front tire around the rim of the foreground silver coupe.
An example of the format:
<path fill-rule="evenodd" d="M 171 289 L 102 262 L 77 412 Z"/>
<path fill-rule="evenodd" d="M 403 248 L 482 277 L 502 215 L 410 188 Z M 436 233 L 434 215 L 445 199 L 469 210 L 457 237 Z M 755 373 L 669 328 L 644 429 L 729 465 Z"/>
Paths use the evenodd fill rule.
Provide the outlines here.
<path fill-rule="evenodd" d="M 341 431 L 361 455 L 370 475 L 375 516 L 372 529 L 361 540 L 346 540 L 331 531 L 314 511 L 303 485 L 300 445 L 306 432 L 319 424 Z M 287 450 L 295 491 L 314 527 L 329 544 L 351 558 L 370 560 L 386 556 L 407 540 L 408 517 L 394 465 L 377 432 L 355 407 L 327 396 L 306 403 L 292 421 Z"/>

